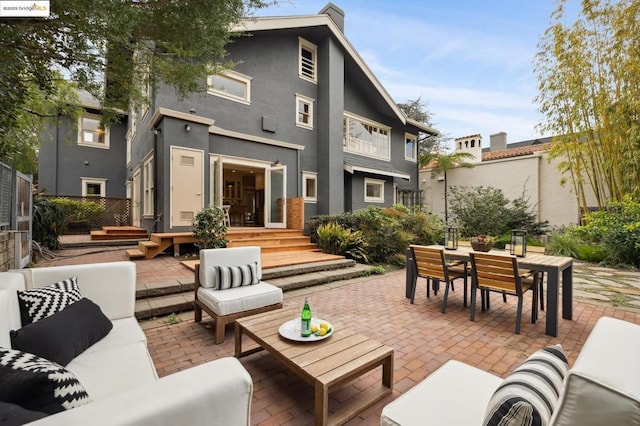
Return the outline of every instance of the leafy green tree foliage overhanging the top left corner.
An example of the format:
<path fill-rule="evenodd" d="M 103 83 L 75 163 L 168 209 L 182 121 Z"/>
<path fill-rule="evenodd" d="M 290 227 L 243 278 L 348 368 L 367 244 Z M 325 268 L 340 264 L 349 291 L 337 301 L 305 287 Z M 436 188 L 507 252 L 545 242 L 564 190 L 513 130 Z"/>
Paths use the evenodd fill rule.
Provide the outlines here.
<path fill-rule="evenodd" d="M 229 66 L 232 25 L 268 0 L 51 2 L 49 18 L 0 20 L 0 151 L 20 137 L 34 88 L 51 101 L 64 77 L 101 102 L 107 124 L 148 85 L 179 97 L 205 90 L 206 76 Z M 13 147 L 12 149 L 16 149 Z"/>

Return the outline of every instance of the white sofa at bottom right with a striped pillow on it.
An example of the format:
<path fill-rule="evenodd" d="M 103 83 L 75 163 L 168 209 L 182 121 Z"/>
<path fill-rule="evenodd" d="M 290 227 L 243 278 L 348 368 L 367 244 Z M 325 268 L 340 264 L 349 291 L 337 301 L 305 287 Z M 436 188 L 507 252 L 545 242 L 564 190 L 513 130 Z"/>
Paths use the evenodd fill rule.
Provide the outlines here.
<path fill-rule="evenodd" d="M 504 380 L 448 361 L 385 406 L 380 424 L 491 425 L 510 417 L 500 424 L 640 425 L 640 325 L 600 318 L 571 369 L 560 351 L 536 352 Z M 545 387 L 550 406 L 541 411 L 552 414 L 541 420 L 531 413 Z"/>

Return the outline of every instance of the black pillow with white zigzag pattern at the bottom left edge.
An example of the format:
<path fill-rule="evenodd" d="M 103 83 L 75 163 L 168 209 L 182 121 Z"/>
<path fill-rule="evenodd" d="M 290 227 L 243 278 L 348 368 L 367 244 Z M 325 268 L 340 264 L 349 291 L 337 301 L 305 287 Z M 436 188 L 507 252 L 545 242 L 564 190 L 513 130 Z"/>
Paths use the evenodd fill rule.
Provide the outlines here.
<path fill-rule="evenodd" d="M 0 348 L 0 401 L 54 414 L 91 402 L 70 371 L 36 355 Z"/>

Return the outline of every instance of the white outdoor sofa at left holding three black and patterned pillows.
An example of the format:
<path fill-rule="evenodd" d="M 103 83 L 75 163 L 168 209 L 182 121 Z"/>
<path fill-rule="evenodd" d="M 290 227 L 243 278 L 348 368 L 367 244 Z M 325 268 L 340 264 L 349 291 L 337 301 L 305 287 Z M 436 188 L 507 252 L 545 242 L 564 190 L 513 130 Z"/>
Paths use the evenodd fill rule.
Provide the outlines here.
<path fill-rule="evenodd" d="M 64 306 L 78 290 L 82 298 Z M 134 316 L 135 291 L 133 262 L 0 273 L 0 420 L 248 425 L 253 382 L 235 358 L 158 379 Z M 25 312 L 47 311 L 55 313 L 23 326 Z"/>

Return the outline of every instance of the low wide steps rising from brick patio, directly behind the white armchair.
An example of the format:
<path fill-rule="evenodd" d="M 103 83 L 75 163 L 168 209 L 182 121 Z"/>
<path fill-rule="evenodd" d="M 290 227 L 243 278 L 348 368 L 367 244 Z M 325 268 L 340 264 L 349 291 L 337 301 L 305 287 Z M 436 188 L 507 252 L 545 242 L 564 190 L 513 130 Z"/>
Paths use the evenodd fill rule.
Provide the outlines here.
<path fill-rule="evenodd" d="M 353 261 L 318 262 L 318 264 L 273 268 L 263 271 L 263 280 L 283 291 L 343 281 L 367 275 L 372 267 Z M 298 273 L 292 270 L 297 269 Z M 304 272 L 300 271 L 304 269 Z M 149 319 L 193 310 L 193 282 L 156 283 L 139 286 L 136 291 L 136 318 Z"/>

